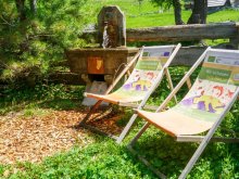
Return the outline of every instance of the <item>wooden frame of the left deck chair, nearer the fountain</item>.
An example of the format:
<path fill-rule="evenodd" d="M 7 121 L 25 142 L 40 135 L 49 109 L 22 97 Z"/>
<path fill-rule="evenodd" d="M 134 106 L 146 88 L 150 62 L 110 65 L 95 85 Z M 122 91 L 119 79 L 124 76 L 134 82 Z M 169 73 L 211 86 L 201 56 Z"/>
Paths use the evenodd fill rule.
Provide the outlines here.
<path fill-rule="evenodd" d="M 169 55 L 167 62 L 165 63 L 165 65 L 163 66 L 162 71 L 159 73 L 155 82 L 150 87 L 150 89 L 148 90 L 148 92 L 146 93 L 146 97 L 141 100 L 141 102 L 138 105 L 133 105 L 131 103 L 118 103 L 120 106 L 126 106 L 126 107 L 136 107 L 136 108 L 142 108 L 146 103 L 147 100 L 149 99 L 150 94 L 158 88 L 158 86 L 160 85 L 160 82 L 163 79 L 163 76 L 166 75 L 171 90 L 174 89 L 173 87 L 173 82 L 171 79 L 171 75 L 168 72 L 168 66 L 172 63 L 173 59 L 175 57 L 176 53 L 178 52 L 178 50 L 180 49 L 181 44 L 178 43 L 177 46 L 162 46 L 162 48 L 167 48 L 167 47 L 174 47 L 174 50 L 172 52 L 172 54 Z M 147 47 L 150 48 L 150 47 Z M 153 48 L 153 47 L 152 47 Z M 133 66 L 133 64 L 138 60 L 138 57 L 141 57 L 142 55 L 142 51 L 143 48 L 136 54 L 136 56 L 130 61 L 130 63 L 123 69 L 123 72 L 116 77 L 115 81 L 109 87 L 109 89 L 106 90 L 106 92 L 104 94 L 109 94 L 113 88 L 116 86 L 116 84 L 122 79 L 122 77 L 129 71 L 129 68 Z M 85 94 L 86 95 L 86 94 Z M 87 95 L 86 95 L 87 97 Z M 175 97 L 176 100 L 176 97 Z M 131 116 L 131 118 L 129 119 L 129 122 L 127 123 L 127 125 L 125 126 L 125 128 L 123 129 L 122 133 L 117 137 L 117 136 L 113 136 L 111 133 L 106 133 L 93 126 L 90 126 L 87 123 L 87 120 L 90 118 L 91 114 L 99 107 L 100 103 L 103 102 L 104 100 L 100 99 L 96 102 L 96 104 L 90 108 L 89 113 L 85 116 L 85 118 L 78 124 L 77 127 L 85 127 L 88 128 L 95 132 L 108 136 L 112 139 L 115 139 L 117 143 L 121 143 L 122 140 L 125 138 L 125 136 L 128 133 L 128 131 L 130 130 L 130 127 L 133 126 L 134 122 L 137 118 L 137 114 L 134 114 Z M 109 102 L 109 101 L 108 101 Z M 155 108 L 155 106 L 148 106 L 148 108 Z"/>

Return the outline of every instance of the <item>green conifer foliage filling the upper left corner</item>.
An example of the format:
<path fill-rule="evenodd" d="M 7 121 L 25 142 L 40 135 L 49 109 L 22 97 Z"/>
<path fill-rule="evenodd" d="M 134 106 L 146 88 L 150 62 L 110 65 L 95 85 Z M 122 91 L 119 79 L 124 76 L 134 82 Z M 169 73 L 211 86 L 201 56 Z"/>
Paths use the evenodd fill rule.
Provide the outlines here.
<path fill-rule="evenodd" d="M 89 1 L 89 2 L 88 2 Z M 25 3 L 21 21 L 15 1 L 0 4 L 0 77 L 18 79 L 46 75 L 50 64 L 64 59 L 67 48 L 84 44 L 83 27 L 96 15 L 90 0 L 37 1 L 37 12 Z"/>

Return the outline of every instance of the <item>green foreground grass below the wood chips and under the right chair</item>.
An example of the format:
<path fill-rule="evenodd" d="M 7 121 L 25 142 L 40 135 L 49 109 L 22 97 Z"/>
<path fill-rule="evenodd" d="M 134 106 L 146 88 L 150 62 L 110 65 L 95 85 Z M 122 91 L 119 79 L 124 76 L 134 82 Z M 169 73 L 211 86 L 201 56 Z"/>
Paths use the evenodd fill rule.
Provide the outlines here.
<path fill-rule="evenodd" d="M 89 132 L 93 143 L 47 157 L 40 164 L 22 163 L 11 177 L 24 178 L 156 178 L 126 145 L 142 124 L 117 144 L 114 140 Z M 196 143 L 179 143 L 173 138 L 149 128 L 136 143 L 136 150 L 168 178 L 177 178 L 198 148 Z M 236 178 L 239 174 L 238 144 L 210 143 L 197 162 L 189 178 Z M 1 172 L 4 168 L 0 166 Z M 30 178 L 30 177 L 29 177 Z"/>

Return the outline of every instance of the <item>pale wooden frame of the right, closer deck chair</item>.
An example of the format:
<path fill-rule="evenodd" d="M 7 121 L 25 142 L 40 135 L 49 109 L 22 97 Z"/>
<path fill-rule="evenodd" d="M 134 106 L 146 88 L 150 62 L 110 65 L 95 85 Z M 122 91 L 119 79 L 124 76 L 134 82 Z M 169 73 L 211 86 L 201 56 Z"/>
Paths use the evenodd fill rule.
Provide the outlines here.
<path fill-rule="evenodd" d="M 179 84 L 174 88 L 174 90 L 169 93 L 169 95 L 164 100 L 164 102 L 159 106 L 159 108 L 155 112 L 161 112 L 166 107 L 168 102 L 178 92 L 180 87 L 185 82 L 187 82 L 190 75 L 203 62 L 207 51 L 210 51 L 210 50 L 213 51 L 213 49 L 211 49 L 211 48 L 207 48 L 204 51 L 204 53 L 198 59 L 198 61 L 194 63 L 194 65 L 188 71 L 188 73 L 184 76 L 184 78 L 179 81 Z M 217 51 L 218 51 L 218 49 L 217 49 Z M 219 50 L 219 51 L 229 51 L 229 50 Z M 236 50 L 236 51 L 238 52 L 238 50 Z M 209 142 L 211 142 L 211 141 L 212 142 L 239 142 L 239 138 L 236 138 L 236 137 L 235 138 L 213 137 L 214 132 L 216 131 L 216 129 L 218 128 L 221 123 L 223 122 L 226 113 L 231 108 L 232 104 L 237 100 L 238 94 L 239 94 L 239 87 L 235 91 L 235 93 L 231 98 L 231 102 L 227 106 L 225 106 L 223 113 L 219 115 L 219 117 L 217 117 L 217 119 L 215 120 L 215 123 L 213 124 L 213 126 L 211 127 L 211 129 L 207 131 L 207 133 L 205 136 L 176 136 L 176 141 L 177 142 L 200 142 L 199 148 L 196 150 L 194 154 L 192 155 L 192 157 L 190 158 L 190 161 L 188 162 L 188 164 L 184 168 L 183 172 L 180 174 L 180 176 L 179 176 L 180 179 L 184 179 L 184 178 L 187 177 L 187 175 L 190 172 L 193 165 L 196 164 L 196 162 L 198 161 L 198 158 L 200 157 L 200 155 L 202 154 L 202 152 L 204 151 L 204 149 L 205 149 L 205 146 L 207 145 Z M 166 176 L 164 174 L 162 174 L 161 171 L 155 169 L 144 157 L 139 155 L 138 152 L 134 149 L 134 145 L 137 142 L 137 140 L 149 128 L 150 125 L 151 125 L 151 123 L 147 122 L 143 125 L 143 127 L 138 131 L 136 137 L 128 143 L 127 148 L 131 153 L 137 155 L 138 158 L 142 163 L 144 163 L 158 177 L 166 178 Z"/>

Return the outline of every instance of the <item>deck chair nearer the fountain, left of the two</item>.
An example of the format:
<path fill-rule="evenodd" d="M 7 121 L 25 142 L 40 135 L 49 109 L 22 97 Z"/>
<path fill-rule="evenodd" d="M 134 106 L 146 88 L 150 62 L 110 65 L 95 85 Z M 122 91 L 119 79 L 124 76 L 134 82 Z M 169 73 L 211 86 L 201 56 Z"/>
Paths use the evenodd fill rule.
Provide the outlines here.
<path fill-rule="evenodd" d="M 142 108 L 150 94 L 160 85 L 164 74 L 166 75 L 169 87 L 173 90 L 173 84 L 167 67 L 173 61 L 179 48 L 180 43 L 178 43 L 177 46 L 143 47 L 138 55 L 130 62 L 130 64 L 128 64 L 127 67 L 118 75 L 112 86 L 109 87 L 105 94 L 100 95 L 93 93 L 85 93 L 85 97 L 95 98 L 98 101 L 90 108 L 89 113 L 85 116 L 85 118 L 79 123 L 78 126 L 86 127 L 102 135 L 106 135 L 115 139 L 117 143 L 122 142 L 124 137 L 129 131 L 131 125 L 134 124 L 137 115 L 134 115 L 129 119 L 128 124 L 126 125 L 120 137 L 100 131 L 98 128 L 92 127 L 92 125 L 88 125 L 87 120 L 90 118 L 91 114 L 98 108 L 99 104 L 102 101 L 121 106 Z M 136 61 L 137 63 L 135 65 L 135 68 L 129 75 L 128 79 L 121 88 L 110 93 L 117 81 L 124 76 L 124 74 Z"/>

